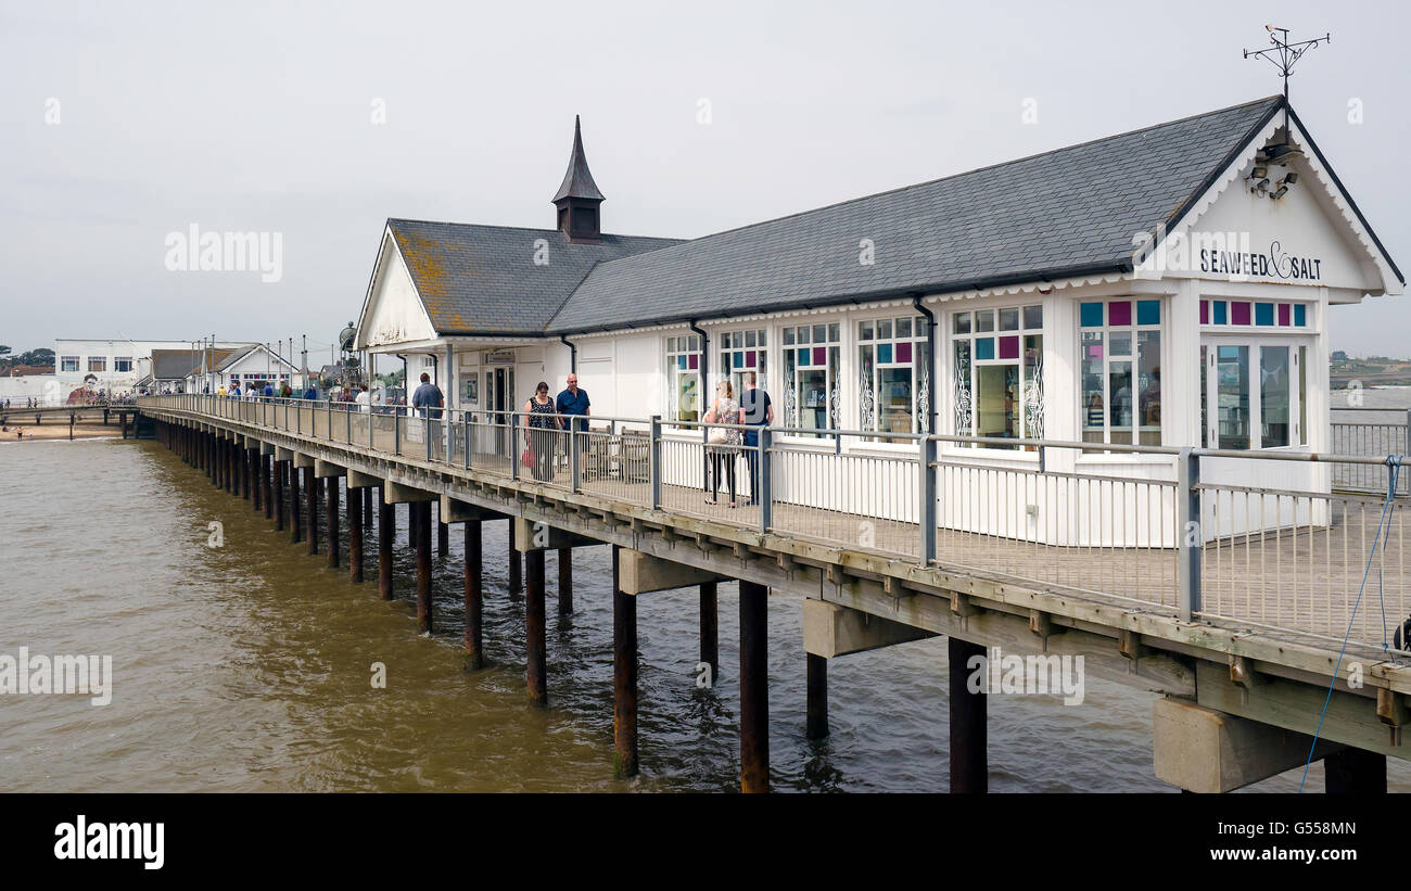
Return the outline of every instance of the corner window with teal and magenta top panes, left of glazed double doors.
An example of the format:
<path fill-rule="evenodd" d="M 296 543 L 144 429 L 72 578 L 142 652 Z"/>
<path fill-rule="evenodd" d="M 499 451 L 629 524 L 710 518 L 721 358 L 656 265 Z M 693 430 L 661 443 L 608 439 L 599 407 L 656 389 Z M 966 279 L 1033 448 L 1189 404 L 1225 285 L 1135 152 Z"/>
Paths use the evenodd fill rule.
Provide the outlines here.
<path fill-rule="evenodd" d="M 1082 440 L 1161 444 L 1161 302 L 1078 306 Z"/>

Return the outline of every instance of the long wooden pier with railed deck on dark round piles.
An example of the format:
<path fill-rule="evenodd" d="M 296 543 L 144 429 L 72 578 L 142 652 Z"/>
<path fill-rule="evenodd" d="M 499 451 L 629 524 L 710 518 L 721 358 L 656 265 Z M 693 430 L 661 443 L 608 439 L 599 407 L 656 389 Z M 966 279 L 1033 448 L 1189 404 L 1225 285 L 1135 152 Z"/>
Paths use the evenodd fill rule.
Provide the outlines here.
<path fill-rule="evenodd" d="M 213 485 L 250 498 L 277 529 L 288 516 L 292 540 L 302 531 L 309 554 L 329 565 L 339 565 L 346 510 L 354 581 L 364 519 L 377 500 L 384 599 L 394 595 L 392 508 L 409 505 L 422 632 L 436 627 L 433 505 L 440 543 L 447 526 L 464 524 L 470 668 L 483 664 L 483 561 L 495 558 L 481 554 L 480 529 L 509 523 L 511 570 L 522 560 L 511 585 L 525 588 L 532 705 L 553 702 L 545 553 L 559 551 L 559 608 L 571 610 L 573 548 L 612 547 L 618 775 L 641 767 L 635 598 L 698 586 L 698 613 L 680 620 L 698 623 L 700 658 L 714 668 L 715 592 L 728 581 L 741 591 L 744 791 L 769 787 L 772 594 L 803 602 L 807 663 L 773 670 L 807 672 L 811 737 L 828 733 L 830 660 L 950 639 L 952 791 L 986 788 L 988 694 L 965 680 L 992 647 L 1081 656 L 1094 677 L 1160 694 L 1154 770 L 1184 789 L 1230 791 L 1298 767 L 1315 730 L 1328 791 L 1384 791 L 1386 758 L 1407 757 L 1411 658 L 1386 646 L 1391 630 L 1381 619 L 1384 612 L 1397 626 L 1411 608 L 1407 503 L 1398 496 L 1388 508 L 1374 489 L 1336 491 L 1321 477 L 1336 467 L 1386 472 L 1380 458 L 1036 440 L 1010 443 L 1038 457 L 1016 469 L 957 448 L 985 444 L 974 437 L 840 430 L 800 446 L 776 444 L 763 429 L 758 447 L 741 450 L 753 448 L 759 464 L 759 503 L 731 509 L 704 503 L 701 493 L 714 424 L 594 417 L 594 427 L 552 434 L 562 467 L 536 479 L 518 460 L 525 419 L 516 413 L 420 419 L 358 407 L 199 395 L 140 400 L 161 443 Z M 856 441 L 844 448 L 844 440 Z M 1084 451 L 1139 455 L 1151 478 L 1075 472 L 1062 455 Z M 1257 485 L 1273 464 L 1302 468 L 1309 485 Z M 320 498 L 329 520 L 322 550 Z M 1362 585 L 1369 567 L 1376 588 Z"/>

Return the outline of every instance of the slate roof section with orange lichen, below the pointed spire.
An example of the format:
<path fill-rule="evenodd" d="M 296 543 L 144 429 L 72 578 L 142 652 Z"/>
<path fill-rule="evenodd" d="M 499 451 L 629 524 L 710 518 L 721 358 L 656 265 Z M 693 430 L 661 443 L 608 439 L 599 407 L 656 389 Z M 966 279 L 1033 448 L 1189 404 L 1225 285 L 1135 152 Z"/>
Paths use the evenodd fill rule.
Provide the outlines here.
<path fill-rule="evenodd" d="M 387 226 L 440 334 L 543 334 L 594 264 L 679 242 L 604 234 L 600 244 L 573 244 L 553 228 L 396 219 Z"/>

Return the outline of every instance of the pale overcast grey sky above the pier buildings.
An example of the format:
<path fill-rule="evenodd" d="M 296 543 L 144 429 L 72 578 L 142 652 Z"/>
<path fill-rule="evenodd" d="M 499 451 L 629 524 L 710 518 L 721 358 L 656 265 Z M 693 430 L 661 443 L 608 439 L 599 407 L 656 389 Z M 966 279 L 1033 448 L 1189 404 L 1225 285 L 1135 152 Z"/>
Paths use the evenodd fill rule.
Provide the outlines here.
<path fill-rule="evenodd" d="M 574 114 L 604 230 L 690 238 L 1277 93 L 1240 52 L 1270 14 L 1332 32 L 1294 107 L 1405 271 L 1407 8 L 3 0 L 0 344 L 306 336 L 312 362 L 388 217 L 552 228 Z M 278 275 L 172 269 L 192 226 L 262 233 Z M 1407 299 L 1335 307 L 1332 348 L 1411 354 Z"/>

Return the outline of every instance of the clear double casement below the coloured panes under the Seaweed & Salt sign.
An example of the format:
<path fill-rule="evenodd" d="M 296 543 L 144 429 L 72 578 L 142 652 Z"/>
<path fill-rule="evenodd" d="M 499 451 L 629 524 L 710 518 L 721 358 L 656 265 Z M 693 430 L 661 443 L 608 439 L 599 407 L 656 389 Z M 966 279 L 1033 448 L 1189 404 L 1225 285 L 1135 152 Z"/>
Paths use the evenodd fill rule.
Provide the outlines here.
<path fill-rule="evenodd" d="M 1284 448 L 1308 443 L 1308 347 L 1219 338 L 1201 347 L 1202 443 L 1215 448 Z M 1206 382 L 1209 376 L 1212 381 Z M 1213 424 L 1205 406 L 1215 405 Z"/>

